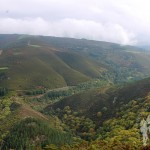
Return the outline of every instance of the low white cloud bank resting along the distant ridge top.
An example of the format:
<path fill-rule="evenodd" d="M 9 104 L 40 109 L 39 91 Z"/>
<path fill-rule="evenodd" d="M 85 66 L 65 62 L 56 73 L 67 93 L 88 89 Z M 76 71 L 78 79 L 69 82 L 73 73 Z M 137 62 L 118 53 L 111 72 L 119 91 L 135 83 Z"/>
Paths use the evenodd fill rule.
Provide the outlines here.
<path fill-rule="evenodd" d="M 46 21 L 35 19 L 0 19 L 0 33 L 23 33 L 58 37 L 87 38 L 120 44 L 135 44 L 133 33 L 118 24 L 102 24 L 90 20 L 63 19 Z"/>

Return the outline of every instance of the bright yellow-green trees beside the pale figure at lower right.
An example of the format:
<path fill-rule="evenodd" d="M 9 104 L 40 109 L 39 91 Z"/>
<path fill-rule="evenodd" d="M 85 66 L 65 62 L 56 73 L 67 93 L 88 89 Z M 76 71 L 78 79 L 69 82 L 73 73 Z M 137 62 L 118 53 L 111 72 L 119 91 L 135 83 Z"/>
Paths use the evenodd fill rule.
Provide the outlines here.
<path fill-rule="evenodd" d="M 99 139 L 107 142 L 124 142 L 132 145 L 132 149 L 140 149 L 143 145 L 140 122 L 150 115 L 150 96 L 138 98 L 124 104 L 116 112 L 116 117 L 103 122 L 99 129 Z M 147 142 L 149 144 L 149 142 Z M 149 149 L 149 148 L 148 148 Z"/>

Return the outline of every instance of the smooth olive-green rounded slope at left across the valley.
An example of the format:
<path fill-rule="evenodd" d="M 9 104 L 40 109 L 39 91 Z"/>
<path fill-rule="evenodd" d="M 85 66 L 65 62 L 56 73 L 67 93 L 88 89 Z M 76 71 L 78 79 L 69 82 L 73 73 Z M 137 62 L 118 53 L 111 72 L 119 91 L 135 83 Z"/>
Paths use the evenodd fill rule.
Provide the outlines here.
<path fill-rule="evenodd" d="M 75 85 L 90 79 L 80 70 L 63 62 L 53 49 L 24 46 L 22 49 L 6 50 L 0 57 L 1 70 L 5 80 L 1 85 L 10 89 L 46 88 Z M 92 72 L 92 70 L 91 70 Z"/>

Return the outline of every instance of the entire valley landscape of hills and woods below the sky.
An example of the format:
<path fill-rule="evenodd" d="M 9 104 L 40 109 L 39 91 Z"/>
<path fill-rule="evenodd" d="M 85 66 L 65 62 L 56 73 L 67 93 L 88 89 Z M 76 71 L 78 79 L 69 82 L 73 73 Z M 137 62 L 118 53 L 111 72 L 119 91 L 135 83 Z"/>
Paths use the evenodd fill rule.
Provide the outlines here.
<path fill-rule="evenodd" d="M 0 34 L 0 149 L 144 150 L 150 52 Z"/>

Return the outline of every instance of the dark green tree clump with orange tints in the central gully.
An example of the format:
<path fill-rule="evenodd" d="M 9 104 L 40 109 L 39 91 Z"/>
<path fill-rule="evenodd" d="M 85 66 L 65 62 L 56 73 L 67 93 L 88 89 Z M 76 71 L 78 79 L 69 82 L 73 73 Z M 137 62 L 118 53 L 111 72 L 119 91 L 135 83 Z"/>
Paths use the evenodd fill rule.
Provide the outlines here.
<path fill-rule="evenodd" d="M 52 110 L 49 113 L 52 113 Z M 65 106 L 63 110 L 58 108 L 52 114 L 62 121 L 64 130 L 71 132 L 75 137 L 85 141 L 96 139 L 96 125 L 94 122 L 83 115 L 81 116 L 79 112 L 73 111 L 69 106 Z"/>

